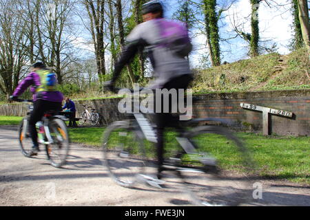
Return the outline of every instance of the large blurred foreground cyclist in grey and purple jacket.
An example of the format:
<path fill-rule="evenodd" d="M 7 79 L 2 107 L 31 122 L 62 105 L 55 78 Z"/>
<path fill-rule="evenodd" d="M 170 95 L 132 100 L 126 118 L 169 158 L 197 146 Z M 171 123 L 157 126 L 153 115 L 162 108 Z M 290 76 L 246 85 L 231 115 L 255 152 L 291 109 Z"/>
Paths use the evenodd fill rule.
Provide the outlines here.
<path fill-rule="evenodd" d="M 114 74 L 111 81 L 105 83 L 105 86 L 114 90 L 116 79 L 121 74 L 125 65 L 130 63 L 138 50 L 148 49 L 148 56 L 154 69 L 154 82 L 150 85 L 151 89 L 187 89 L 192 81 L 192 73 L 189 69 L 189 62 L 185 58 L 192 50 L 190 41 L 179 44 L 169 45 L 163 43 L 165 35 L 171 30 L 169 21 L 164 19 L 163 5 L 158 1 L 149 1 L 142 8 L 143 23 L 139 24 L 127 36 L 127 45 L 121 53 L 121 57 L 115 64 Z M 168 30 L 170 28 L 170 30 Z M 187 29 L 186 35 L 187 35 Z M 177 36 L 176 36 L 177 37 Z M 163 96 L 161 98 L 163 103 Z M 158 179 L 161 179 L 163 170 L 163 132 L 169 122 L 174 121 L 172 117 L 172 100 L 169 99 L 169 113 L 163 113 L 163 104 L 161 104 L 161 113 L 156 113 L 156 133 L 157 133 L 157 157 L 158 157 Z M 176 103 L 174 103 L 176 104 Z"/>

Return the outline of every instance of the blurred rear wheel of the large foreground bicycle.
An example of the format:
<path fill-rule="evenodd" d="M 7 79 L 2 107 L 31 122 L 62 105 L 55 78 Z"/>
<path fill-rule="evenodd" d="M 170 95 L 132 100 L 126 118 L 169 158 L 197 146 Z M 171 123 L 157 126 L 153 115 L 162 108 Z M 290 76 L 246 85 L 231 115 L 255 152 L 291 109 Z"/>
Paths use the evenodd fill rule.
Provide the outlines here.
<path fill-rule="evenodd" d="M 252 197 L 253 185 L 249 174 L 254 171 L 253 159 L 245 145 L 228 129 L 219 126 L 199 126 L 186 133 L 185 137 L 197 149 L 196 155 L 185 156 L 187 159 L 188 156 L 196 158 L 189 159 L 189 165 L 200 166 L 204 171 L 180 169 L 185 190 L 194 204 L 245 205 Z M 231 167 L 238 170 L 238 173 L 224 171 Z M 218 169 L 219 173 L 216 172 Z"/>

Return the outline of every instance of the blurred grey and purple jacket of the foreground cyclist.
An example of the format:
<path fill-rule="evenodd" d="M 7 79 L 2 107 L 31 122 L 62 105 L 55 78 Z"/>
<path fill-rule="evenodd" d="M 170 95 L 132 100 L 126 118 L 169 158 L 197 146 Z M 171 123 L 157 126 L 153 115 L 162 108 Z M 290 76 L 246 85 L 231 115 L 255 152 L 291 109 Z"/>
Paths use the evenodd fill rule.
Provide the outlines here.
<path fill-rule="evenodd" d="M 161 88 L 165 83 L 183 74 L 192 74 L 189 68 L 189 61 L 186 58 L 177 56 L 169 47 L 157 46 L 165 39 L 169 31 L 170 21 L 167 19 L 153 19 L 140 23 L 127 36 L 127 45 L 118 62 L 115 64 L 112 82 L 121 74 L 125 65 L 138 52 L 138 49 L 146 49 L 147 55 L 154 69 L 155 80 L 149 85 L 152 89 Z"/>

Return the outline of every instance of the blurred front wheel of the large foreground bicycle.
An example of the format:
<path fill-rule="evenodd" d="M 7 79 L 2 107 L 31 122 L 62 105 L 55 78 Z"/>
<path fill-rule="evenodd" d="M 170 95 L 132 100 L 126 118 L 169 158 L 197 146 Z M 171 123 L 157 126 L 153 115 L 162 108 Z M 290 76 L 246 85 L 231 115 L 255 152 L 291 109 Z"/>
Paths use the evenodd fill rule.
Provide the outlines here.
<path fill-rule="evenodd" d="M 133 187 L 145 167 L 143 140 L 129 121 L 110 124 L 103 134 L 103 162 L 111 177 L 124 187 Z"/>

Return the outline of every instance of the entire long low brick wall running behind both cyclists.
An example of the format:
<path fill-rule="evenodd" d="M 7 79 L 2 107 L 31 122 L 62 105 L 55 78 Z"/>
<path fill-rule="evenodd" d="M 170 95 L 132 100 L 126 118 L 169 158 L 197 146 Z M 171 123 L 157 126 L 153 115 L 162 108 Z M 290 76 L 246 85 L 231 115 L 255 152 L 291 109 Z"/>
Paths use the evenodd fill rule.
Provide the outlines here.
<path fill-rule="evenodd" d="M 236 122 L 236 129 L 262 131 L 262 113 L 242 109 L 240 102 L 270 107 L 294 113 L 293 118 L 271 115 L 272 133 L 278 135 L 310 135 L 310 89 L 263 91 L 231 94 L 201 94 L 194 104 L 195 118 L 223 118 Z M 121 120 L 125 115 L 117 110 L 121 99 L 76 101 L 77 117 L 83 104 L 94 107 L 102 116 L 102 124 Z M 25 115 L 24 104 L 1 105 L 0 115 Z"/>

